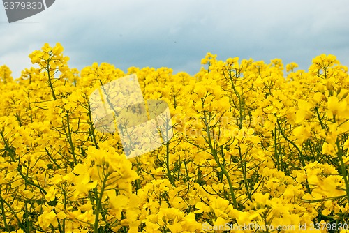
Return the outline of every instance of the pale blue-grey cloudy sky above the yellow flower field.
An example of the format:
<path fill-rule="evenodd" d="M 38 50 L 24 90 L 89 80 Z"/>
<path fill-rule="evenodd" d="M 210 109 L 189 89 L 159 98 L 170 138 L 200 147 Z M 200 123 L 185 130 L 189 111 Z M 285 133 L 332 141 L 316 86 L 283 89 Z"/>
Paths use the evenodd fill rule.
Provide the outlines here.
<path fill-rule="evenodd" d="M 68 66 L 107 62 L 168 67 L 191 75 L 207 52 L 307 70 L 320 54 L 349 66 L 348 0 L 56 0 L 47 10 L 8 23 L 0 5 L 0 66 L 20 77 L 44 43 L 64 47 Z"/>

